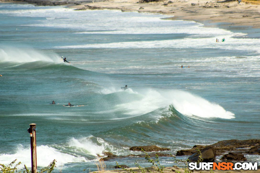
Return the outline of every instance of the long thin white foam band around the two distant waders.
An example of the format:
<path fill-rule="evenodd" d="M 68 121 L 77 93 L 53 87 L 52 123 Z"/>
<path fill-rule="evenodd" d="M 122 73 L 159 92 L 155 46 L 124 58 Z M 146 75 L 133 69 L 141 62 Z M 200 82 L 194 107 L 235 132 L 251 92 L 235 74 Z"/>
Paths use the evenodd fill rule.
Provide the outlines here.
<path fill-rule="evenodd" d="M 113 42 L 102 44 L 84 44 L 84 45 L 67 45 L 57 46 L 56 48 L 218 48 L 230 50 L 252 50 L 259 51 L 258 46 L 260 39 L 238 39 L 231 38 L 232 35 L 220 35 L 220 38 L 225 38 L 226 42 L 215 42 L 215 37 L 211 38 L 184 38 L 172 40 L 158 41 L 133 41 L 133 42 Z"/>

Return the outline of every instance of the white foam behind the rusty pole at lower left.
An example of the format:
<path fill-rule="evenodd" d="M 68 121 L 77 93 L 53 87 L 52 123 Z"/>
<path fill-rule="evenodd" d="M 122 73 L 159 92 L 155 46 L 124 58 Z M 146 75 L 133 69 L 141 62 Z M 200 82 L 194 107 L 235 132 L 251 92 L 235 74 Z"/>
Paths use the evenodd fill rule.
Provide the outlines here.
<path fill-rule="evenodd" d="M 50 164 L 51 161 L 56 159 L 56 165 L 62 166 L 69 162 L 86 162 L 84 157 L 75 157 L 66 153 L 62 153 L 52 147 L 48 147 L 45 145 L 38 146 L 36 148 L 37 151 L 37 166 L 38 167 L 46 167 Z M 19 165 L 18 169 L 23 168 L 24 164 L 29 168 L 31 167 L 31 149 L 24 148 L 22 145 L 19 145 L 16 149 L 15 154 L 1 154 L 0 161 L 1 164 L 8 165 L 14 159 L 17 159 L 18 162 L 22 162 Z"/>

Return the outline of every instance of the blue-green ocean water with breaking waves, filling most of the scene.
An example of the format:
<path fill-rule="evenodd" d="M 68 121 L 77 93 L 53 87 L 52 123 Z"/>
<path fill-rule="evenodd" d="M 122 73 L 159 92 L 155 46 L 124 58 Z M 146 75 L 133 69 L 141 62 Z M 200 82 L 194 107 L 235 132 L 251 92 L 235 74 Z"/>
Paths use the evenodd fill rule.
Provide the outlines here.
<path fill-rule="evenodd" d="M 176 154 L 259 139 L 260 39 L 167 17 L 1 3 L 0 163 L 31 166 L 30 123 L 38 168 L 56 159 L 54 172 L 65 173 L 97 170 L 103 151 L 140 154 L 129 150 L 136 145 Z M 63 107 L 68 102 L 84 106 Z M 106 169 L 116 161 L 149 165 L 127 157 Z"/>

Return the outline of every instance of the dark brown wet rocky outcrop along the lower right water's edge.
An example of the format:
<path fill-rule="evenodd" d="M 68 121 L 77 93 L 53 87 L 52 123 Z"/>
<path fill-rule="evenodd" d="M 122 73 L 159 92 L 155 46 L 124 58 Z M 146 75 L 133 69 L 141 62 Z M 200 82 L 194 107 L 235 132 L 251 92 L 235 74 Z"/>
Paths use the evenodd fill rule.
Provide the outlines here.
<path fill-rule="evenodd" d="M 146 152 L 152 152 L 149 153 L 150 157 L 155 157 L 157 155 L 158 157 L 171 157 L 171 154 L 164 154 L 159 153 L 158 151 L 168 151 L 169 148 L 161 148 L 157 147 L 155 145 L 145 145 L 145 146 L 134 146 L 129 148 L 129 150 L 133 151 L 141 151 L 143 149 Z M 199 151 L 198 151 L 199 150 Z M 232 151 L 232 152 L 231 152 Z M 190 156 L 190 161 L 198 161 L 199 156 L 201 154 L 203 162 L 213 162 L 215 160 L 216 156 L 225 154 L 221 160 L 223 161 L 246 161 L 246 158 L 244 157 L 243 153 L 246 154 L 258 154 L 260 155 L 260 140 L 258 139 L 249 139 L 249 140 L 224 140 L 219 141 L 212 145 L 194 145 L 192 149 L 185 149 L 185 150 L 179 150 L 176 153 L 176 156 L 183 156 L 187 155 Z M 123 157 L 145 157 L 145 154 L 140 155 L 126 155 L 126 156 L 117 156 L 114 155 L 111 152 L 103 152 L 103 155 L 107 157 L 103 157 L 103 161 L 111 160 L 111 159 L 118 159 Z M 102 157 L 98 155 L 98 157 Z"/>

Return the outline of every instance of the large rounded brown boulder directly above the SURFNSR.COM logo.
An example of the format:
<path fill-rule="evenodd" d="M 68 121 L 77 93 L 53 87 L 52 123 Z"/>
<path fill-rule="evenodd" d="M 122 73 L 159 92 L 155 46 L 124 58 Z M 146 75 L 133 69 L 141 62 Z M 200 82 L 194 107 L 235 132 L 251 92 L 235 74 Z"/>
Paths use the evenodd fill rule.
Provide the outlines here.
<path fill-rule="evenodd" d="M 203 162 L 213 162 L 216 157 L 216 151 L 214 147 L 207 146 L 204 149 L 199 149 L 196 153 L 191 155 L 188 159 L 190 161 L 199 161 L 199 156 L 201 155 L 201 158 L 203 159 Z"/>

